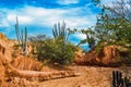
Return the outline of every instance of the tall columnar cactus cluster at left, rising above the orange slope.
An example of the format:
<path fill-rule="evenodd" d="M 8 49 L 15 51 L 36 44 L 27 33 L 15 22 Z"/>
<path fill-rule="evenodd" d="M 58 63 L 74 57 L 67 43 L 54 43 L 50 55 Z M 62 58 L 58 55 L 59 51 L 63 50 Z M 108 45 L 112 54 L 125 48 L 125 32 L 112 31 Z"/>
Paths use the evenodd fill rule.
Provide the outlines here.
<path fill-rule="evenodd" d="M 27 45 L 27 28 L 25 27 L 24 30 L 22 29 L 20 32 L 17 17 L 16 17 L 16 24 L 15 24 L 15 33 L 16 33 L 19 46 L 22 47 L 22 54 L 25 55 L 26 54 L 26 45 Z"/>

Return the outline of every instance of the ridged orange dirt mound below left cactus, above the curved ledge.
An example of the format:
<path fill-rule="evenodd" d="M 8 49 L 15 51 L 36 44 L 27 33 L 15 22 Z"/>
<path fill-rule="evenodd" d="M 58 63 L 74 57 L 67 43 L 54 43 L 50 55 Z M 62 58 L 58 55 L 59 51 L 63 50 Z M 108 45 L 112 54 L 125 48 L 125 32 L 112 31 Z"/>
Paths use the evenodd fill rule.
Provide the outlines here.
<path fill-rule="evenodd" d="M 52 66 L 44 65 L 41 62 L 38 62 L 33 58 L 27 58 L 23 55 L 15 58 L 11 62 L 11 64 L 19 70 L 27 70 L 27 71 L 57 72 L 62 70 L 62 69 L 59 70 L 57 67 L 55 69 Z"/>

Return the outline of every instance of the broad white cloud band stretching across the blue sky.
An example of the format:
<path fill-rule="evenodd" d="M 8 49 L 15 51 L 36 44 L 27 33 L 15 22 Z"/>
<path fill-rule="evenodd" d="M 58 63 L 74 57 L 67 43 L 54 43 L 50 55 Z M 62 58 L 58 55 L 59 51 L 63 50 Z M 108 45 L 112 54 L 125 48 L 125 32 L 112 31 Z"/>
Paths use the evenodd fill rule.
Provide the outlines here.
<path fill-rule="evenodd" d="M 85 10 L 85 9 L 84 9 Z M 55 23 L 64 21 L 67 27 L 71 28 L 87 28 L 95 25 L 96 15 L 91 12 L 90 9 L 86 10 L 86 14 L 83 12 L 83 8 L 72 8 L 72 9 L 45 9 L 35 7 L 24 7 L 16 10 L 2 10 L 7 12 L 0 23 L 0 26 L 13 27 L 19 17 L 20 25 L 22 26 L 40 26 L 53 27 Z M 83 14 L 84 13 L 84 14 Z M 81 15 L 83 14 L 83 15 Z M 10 28 L 9 28 L 10 29 Z M 78 38 L 83 38 L 82 35 L 78 35 Z"/>

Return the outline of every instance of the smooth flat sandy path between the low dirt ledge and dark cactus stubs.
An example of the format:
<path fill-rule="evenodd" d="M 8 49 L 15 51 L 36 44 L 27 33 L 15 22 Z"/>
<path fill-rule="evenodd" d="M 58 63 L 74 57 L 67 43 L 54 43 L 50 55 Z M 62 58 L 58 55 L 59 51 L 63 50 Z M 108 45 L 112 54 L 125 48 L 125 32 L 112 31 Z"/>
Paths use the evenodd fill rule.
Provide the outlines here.
<path fill-rule="evenodd" d="M 110 87 L 111 72 L 115 67 L 96 66 L 73 66 L 81 73 L 78 77 L 46 80 L 38 84 L 38 87 Z"/>

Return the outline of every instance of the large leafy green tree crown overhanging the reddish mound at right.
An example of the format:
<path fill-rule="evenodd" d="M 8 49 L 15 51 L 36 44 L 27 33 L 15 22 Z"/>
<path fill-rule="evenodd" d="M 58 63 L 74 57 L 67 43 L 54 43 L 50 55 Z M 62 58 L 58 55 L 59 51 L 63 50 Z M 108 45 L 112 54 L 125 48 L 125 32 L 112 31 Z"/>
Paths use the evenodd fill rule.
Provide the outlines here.
<path fill-rule="evenodd" d="M 131 0 L 119 0 L 112 7 L 102 7 L 95 27 L 99 45 L 131 46 L 130 3 Z"/>

